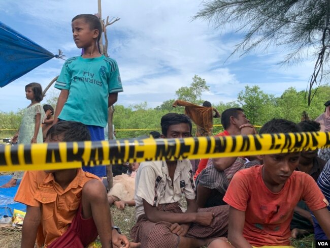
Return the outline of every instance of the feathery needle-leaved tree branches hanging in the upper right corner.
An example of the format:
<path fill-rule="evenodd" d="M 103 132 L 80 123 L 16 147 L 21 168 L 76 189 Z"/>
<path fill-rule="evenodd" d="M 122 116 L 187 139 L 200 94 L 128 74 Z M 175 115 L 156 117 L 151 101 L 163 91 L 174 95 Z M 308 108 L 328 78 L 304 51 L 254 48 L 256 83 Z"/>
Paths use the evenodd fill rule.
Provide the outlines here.
<path fill-rule="evenodd" d="M 324 72 L 329 72 L 323 70 L 330 52 L 329 12 L 330 0 L 208 0 L 193 18 L 208 20 L 215 27 L 229 23 L 236 32 L 243 31 L 245 37 L 233 53 L 285 45 L 289 53 L 283 63 L 292 63 L 307 56 L 306 49 L 316 49 L 308 87 L 310 105 L 313 85 L 321 82 Z"/>

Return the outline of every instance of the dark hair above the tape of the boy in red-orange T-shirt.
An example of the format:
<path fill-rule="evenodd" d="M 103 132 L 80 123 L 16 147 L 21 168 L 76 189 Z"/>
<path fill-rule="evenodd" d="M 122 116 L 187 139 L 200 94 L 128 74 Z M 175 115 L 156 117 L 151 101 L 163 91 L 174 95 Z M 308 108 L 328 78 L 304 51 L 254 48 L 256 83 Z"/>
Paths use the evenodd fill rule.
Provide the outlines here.
<path fill-rule="evenodd" d="M 301 128 L 296 123 L 286 119 L 272 119 L 263 125 L 259 134 L 297 133 Z"/>

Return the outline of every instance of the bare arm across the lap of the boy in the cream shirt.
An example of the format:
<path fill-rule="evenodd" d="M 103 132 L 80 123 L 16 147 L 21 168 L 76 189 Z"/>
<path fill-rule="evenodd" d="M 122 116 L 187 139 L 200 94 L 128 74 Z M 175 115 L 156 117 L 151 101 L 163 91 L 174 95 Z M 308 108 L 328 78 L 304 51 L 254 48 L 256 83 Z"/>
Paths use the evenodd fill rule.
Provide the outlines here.
<path fill-rule="evenodd" d="M 203 226 L 209 226 L 213 220 L 213 214 L 211 212 L 185 212 L 169 214 L 166 211 L 159 211 L 156 207 L 151 206 L 144 199 L 143 208 L 146 214 L 146 218 L 153 223 L 165 221 L 173 224 L 189 224 L 196 222 Z"/>

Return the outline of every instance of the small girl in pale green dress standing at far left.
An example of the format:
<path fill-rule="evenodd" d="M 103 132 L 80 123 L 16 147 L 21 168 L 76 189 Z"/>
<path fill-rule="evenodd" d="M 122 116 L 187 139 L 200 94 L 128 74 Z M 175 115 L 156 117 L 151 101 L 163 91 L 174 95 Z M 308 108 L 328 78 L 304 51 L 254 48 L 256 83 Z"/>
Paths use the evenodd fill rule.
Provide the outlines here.
<path fill-rule="evenodd" d="M 41 120 L 45 116 L 45 112 L 40 104 L 43 100 L 41 85 L 39 83 L 29 83 L 25 85 L 25 97 L 27 100 L 30 100 L 31 103 L 24 110 L 21 126 L 12 138 L 12 143 L 43 143 L 43 135 L 40 125 Z M 2 185 L 1 188 L 15 187 L 17 179 L 21 179 L 23 174 L 23 171 L 15 171 L 9 182 Z"/>

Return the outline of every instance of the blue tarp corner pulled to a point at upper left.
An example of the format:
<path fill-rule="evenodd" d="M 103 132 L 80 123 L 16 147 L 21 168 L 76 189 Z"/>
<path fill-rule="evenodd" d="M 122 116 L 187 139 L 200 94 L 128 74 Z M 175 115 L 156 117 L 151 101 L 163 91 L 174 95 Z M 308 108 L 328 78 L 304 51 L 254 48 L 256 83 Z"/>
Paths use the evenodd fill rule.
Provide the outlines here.
<path fill-rule="evenodd" d="M 0 87 L 4 87 L 54 56 L 0 22 Z"/>

